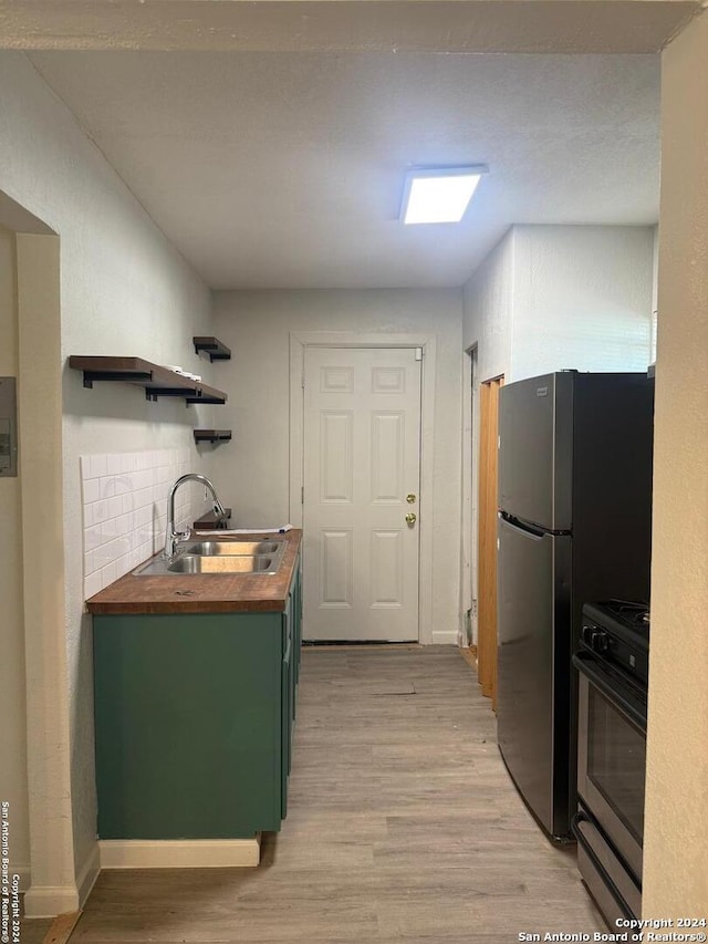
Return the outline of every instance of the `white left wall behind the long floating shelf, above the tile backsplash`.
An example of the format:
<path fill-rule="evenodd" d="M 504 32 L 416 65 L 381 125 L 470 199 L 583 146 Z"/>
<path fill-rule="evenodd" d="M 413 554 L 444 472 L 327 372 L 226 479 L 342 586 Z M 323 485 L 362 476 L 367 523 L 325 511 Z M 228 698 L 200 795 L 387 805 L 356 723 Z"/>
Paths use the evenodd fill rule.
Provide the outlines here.
<path fill-rule="evenodd" d="M 180 364 L 211 378 L 191 349 L 212 333 L 210 292 L 167 243 L 67 108 L 22 53 L 0 53 L 2 187 L 61 238 L 61 356 L 124 354 Z M 218 384 L 215 384 L 218 385 Z M 82 615 L 79 456 L 157 448 L 190 450 L 209 470 L 191 427 L 212 425 L 216 407 L 147 403 L 126 385 L 64 375 L 63 489 L 65 633 L 71 710 L 71 797 L 77 872 L 95 849 L 91 624 Z"/>

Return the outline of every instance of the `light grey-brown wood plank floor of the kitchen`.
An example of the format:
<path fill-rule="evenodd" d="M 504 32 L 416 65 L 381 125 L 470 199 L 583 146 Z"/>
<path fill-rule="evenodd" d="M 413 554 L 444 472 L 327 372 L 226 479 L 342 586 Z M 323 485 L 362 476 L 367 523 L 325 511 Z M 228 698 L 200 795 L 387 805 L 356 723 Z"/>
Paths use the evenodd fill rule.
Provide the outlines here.
<path fill-rule="evenodd" d="M 288 819 L 258 869 L 104 872 L 71 944 L 518 942 L 606 930 L 499 757 L 458 651 L 305 649 Z"/>

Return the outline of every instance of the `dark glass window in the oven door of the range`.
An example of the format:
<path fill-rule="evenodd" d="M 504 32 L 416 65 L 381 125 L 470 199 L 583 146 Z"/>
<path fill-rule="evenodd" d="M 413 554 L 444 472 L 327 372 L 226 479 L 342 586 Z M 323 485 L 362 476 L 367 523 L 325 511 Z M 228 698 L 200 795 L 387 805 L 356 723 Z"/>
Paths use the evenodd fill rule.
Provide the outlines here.
<path fill-rule="evenodd" d="M 587 777 L 641 844 L 644 833 L 646 735 L 590 686 Z"/>

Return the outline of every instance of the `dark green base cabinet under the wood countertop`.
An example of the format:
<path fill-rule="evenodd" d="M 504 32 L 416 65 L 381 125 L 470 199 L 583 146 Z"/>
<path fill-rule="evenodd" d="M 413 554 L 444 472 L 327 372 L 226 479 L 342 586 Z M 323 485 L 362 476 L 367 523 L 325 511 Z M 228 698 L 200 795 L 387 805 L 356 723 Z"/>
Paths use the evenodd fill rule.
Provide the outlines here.
<path fill-rule="evenodd" d="M 288 808 L 300 572 L 284 612 L 94 615 L 101 839 L 236 839 Z"/>

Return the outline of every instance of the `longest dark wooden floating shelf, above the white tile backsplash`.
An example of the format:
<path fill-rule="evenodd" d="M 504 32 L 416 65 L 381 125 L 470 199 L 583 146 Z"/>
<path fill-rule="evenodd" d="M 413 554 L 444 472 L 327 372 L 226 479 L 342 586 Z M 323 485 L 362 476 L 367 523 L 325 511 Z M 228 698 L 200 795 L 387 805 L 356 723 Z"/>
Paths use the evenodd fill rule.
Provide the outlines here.
<path fill-rule="evenodd" d="M 128 383 L 145 388 L 145 396 L 156 401 L 160 396 L 179 396 L 187 403 L 226 403 L 223 391 L 198 383 L 168 367 L 143 361 L 142 357 L 83 357 L 72 355 L 69 366 L 83 371 L 84 386 L 93 387 L 96 381 Z"/>

